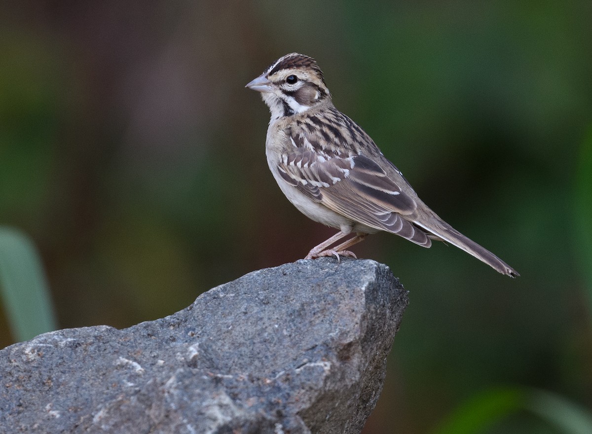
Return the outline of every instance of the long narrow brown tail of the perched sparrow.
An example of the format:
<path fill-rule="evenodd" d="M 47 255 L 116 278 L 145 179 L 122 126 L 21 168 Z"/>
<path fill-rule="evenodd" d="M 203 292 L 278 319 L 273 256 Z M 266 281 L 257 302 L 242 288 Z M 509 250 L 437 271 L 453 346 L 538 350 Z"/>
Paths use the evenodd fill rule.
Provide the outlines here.
<path fill-rule="evenodd" d="M 465 237 L 463 234 L 458 232 L 458 230 L 454 229 L 440 217 L 436 216 L 435 213 L 430 216 L 430 218 L 414 220 L 413 223 L 422 229 L 425 229 L 430 234 L 435 235 L 438 239 L 442 239 L 448 243 L 451 243 L 453 246 L 464 250 L 469 255 L 475 256 L 475 258 L 485 262 L 487 265 L 491 266 L 491 268 L 497 270 L 501 274 L 505 274 L 510 277 L 517 277 L 520 275 L 516 270 L 511 268 L 511 266 L 507 265 L 506 262 L 502 261 L 489 250 L 485 249 L 485 247 L 481 247 L 470 238 Z"/>

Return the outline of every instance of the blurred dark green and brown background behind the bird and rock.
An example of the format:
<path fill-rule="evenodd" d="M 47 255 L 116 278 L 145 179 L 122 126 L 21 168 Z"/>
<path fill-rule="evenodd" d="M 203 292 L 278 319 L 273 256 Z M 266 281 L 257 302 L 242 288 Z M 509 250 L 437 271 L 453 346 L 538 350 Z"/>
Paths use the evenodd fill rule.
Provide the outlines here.
<path fill-rule="evenodd" d="M 356 246 L 410 291 L 364 433 L 440 432 L 483 396 L 513 411 L 462 432 L 567 432 L 512 391 L 592 410 L 591 23 L 590 1 L 2 2 L 0 226 L 36 245 L 60 328 L 163 317 L 303 258 L 334 230 L 279 191 L 244 85 L 308 54 L 420 197 L 522 275 Z"/>

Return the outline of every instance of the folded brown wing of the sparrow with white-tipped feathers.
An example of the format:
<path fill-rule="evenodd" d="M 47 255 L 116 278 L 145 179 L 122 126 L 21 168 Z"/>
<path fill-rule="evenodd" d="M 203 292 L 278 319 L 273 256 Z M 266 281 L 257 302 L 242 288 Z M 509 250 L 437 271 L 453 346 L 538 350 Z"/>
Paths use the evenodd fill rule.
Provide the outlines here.
<path fill-rule="evenodd" d="M 431 245 L 426 233 L 404 218 L 416 211 L 417 202 L 372 157 L 330 155 L 296 146 L 281 156 L 278 169 L 284 181 L 336 213 Z"/>

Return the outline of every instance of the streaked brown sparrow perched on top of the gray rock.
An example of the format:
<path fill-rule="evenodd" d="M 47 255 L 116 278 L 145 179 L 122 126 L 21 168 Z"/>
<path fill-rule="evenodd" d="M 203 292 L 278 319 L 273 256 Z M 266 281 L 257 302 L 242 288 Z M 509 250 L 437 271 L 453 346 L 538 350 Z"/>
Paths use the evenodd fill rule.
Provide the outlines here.
<path fill-rule="evenodd" d="M 450 243 L 501 274 L 519 276 L 424 204 L 374 140 L 335 108 L 312 57 L 286 54 L 245 87 L 260 92 L 271 112 L 265 154 L 279 188 L 305 216 L 339 230 L 304 259 L 356 258 L 350 247 L 384 231 L 422 247 Z"/>

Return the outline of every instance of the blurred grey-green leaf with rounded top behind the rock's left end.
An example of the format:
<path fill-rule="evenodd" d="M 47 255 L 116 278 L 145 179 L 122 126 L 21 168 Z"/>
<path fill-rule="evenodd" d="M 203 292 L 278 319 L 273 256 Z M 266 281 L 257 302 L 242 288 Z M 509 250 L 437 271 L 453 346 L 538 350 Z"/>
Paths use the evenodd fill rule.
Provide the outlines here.
<path fill-rule="evenodd" d="M 47 279 L 33 242 L 0 227 L 0 294 L 17 341 L 57 329 Z"/>

